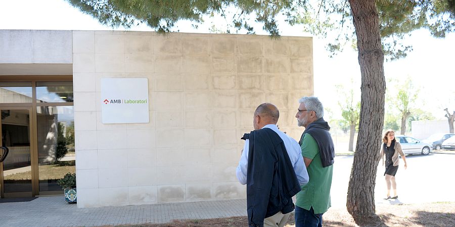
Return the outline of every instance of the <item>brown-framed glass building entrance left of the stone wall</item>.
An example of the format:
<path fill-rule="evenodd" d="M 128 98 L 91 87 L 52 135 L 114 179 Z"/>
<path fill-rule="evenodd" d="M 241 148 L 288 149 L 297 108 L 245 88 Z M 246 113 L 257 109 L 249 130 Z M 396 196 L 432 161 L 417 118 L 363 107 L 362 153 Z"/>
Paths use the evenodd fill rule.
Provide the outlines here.
<path fill-rule="evenodd" d="M 1 197 L 61 195 L 75 173 L 72 78 L 13 79 L 0 78 Z"/>

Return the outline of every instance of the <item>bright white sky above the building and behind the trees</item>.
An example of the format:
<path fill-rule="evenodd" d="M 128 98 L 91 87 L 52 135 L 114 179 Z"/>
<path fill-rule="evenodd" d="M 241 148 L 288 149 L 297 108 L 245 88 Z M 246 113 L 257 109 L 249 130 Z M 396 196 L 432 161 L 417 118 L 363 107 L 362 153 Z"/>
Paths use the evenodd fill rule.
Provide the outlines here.
<path fill-rule="evenodd" d="M 180 32 L 209 33 L 210 25 L 206 23 L 195 29 L 187 22 L 177 23 Z M 279 24 L 279 28 L 281 35 L 311 36 L 302 32 L 300 26 L 289 26 L 284 22 Z M 63 0 L 0 0 L 0 29 L 112 30 Z M 120 27 L 115 30 L 125 29 Z M 153 31 L 145 25 L 128 30 Z M 265 31 L 257 30 L 256 34 L 267 35 Z M 406 77 L 411 77 L 414 86 L 420 88 L 415 107 L 429 111 L 435 119 L 445 120 L 443 109 L 448 107 L 449 111 L 455 110 L 455 34 L 436 39 L 431 37 L 429 31 L 418 30 L 405 41 L 413 45 L 413 51 L 405 59 L 384 62 L 386 80 L 404 81 Z M 340 118 L 340 95 L 335 86 L 352 87 L 360 98 L 357 51 L 346 47 L 343 52 L 330 58 L 324 46 L 326 42 L 323 38 L 313 37 L 314 95 L 321 99 L 325 108 L 330 109 L 327 118 Z M 394 88 L 390 84 L 387 86 L 389 89 Z M 386 112 L 389 108 L 386 103 Z"/>

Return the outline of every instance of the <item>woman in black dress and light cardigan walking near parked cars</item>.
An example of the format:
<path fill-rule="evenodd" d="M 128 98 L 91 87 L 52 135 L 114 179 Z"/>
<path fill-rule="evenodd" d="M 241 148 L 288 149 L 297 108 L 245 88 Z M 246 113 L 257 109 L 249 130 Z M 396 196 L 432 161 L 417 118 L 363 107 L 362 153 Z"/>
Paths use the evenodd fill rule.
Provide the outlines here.
<path fill-rule="evenodd" d="M 385 161 L 386 170 L 384 176 L 387 184 L 387 197 L 384 199 L 397 199 L 398 195 L 396 194 L 395 175 L 399 164 L 398 154 L 404 161 L 404 169 L 407 167 L 406 157 L 401 150 L 401 144 L 395 140 L 395 132 L 393 130 L 387 130 L 384 137 L 382 138 L 382 142 L 383 144 L 381 146 L 380 155 L 382 159 L 382 165 L 384 165 Z M 390 197 L 390 188 L 393 189 L 393 197 Z"/>

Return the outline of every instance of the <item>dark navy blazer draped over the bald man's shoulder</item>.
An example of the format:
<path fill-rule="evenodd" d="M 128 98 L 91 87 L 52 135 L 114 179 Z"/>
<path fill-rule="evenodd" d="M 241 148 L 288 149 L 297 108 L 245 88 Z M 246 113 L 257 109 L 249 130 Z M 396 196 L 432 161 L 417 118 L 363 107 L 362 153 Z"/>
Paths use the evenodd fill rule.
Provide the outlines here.
<path fill-rule="evenodd" d="M 294 210 L 292 197 L 300 185 L 280 136 L 263 128 L 245 134 L 249 139 L 247 172 L 248 223 L 263 226 L 264 218 Z"/>

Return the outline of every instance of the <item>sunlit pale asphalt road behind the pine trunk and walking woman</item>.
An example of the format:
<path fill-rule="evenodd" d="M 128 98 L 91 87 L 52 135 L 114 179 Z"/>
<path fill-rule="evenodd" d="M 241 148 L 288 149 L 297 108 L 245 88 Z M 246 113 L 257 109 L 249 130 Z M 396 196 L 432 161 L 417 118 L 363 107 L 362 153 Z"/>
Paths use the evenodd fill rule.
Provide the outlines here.
<path fill-rule="evenodd" d="M 333 207 L 346 207 L 352 161 L 352 155 L 335 157 L 331 189 Z M 404 162 L 400 158 L 400 166 L 395 176 L 397 200 L 383 200 L 387 192 L 384 180 L 385 168 L 382 163 L 378 165 L 376 204 L 455 202 L 455 154 L 407 155 L 406 161 L 407 169 L 404 169 Z"/>

